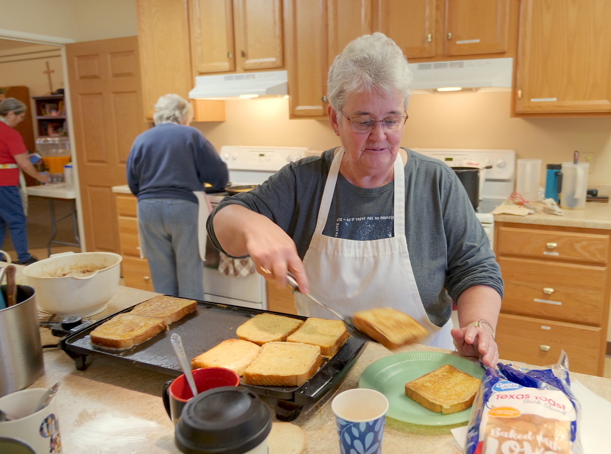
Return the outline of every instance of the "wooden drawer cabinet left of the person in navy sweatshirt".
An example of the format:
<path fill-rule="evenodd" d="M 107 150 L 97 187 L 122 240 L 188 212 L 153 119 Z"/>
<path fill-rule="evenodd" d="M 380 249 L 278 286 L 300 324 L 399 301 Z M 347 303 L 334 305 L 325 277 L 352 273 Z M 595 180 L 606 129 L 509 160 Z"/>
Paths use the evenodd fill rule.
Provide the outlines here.
<path fill-rule="evenodd" d="M 115 201 L 119 221 L 119 244 L 123 256 L 121 266 L 124 285 L 153 291 L 148 260 L 140 258 L 136 196 L 115 193 Z"/>

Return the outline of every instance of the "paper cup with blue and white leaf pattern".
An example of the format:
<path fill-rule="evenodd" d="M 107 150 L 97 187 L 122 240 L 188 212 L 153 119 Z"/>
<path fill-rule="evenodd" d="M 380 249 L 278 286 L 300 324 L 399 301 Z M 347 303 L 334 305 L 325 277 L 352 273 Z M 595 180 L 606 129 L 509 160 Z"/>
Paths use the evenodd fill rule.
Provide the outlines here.
<path fill-rule="evenodd" d="M 388 400 L 374 389 L 349 389 L 334 397 L 342 454 L 380 454 Z"/>

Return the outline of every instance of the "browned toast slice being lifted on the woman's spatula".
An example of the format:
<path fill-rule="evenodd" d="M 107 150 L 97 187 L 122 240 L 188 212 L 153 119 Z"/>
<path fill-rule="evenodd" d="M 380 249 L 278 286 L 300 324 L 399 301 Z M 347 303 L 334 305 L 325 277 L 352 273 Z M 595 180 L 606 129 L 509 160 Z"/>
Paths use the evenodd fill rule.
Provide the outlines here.
<path fill-rule="evenodd" d="M 417 321 L 392 307 L 359 310 L 354 312 L 352 323 L 389 350 L 420 342 L 428 335 Z"/>

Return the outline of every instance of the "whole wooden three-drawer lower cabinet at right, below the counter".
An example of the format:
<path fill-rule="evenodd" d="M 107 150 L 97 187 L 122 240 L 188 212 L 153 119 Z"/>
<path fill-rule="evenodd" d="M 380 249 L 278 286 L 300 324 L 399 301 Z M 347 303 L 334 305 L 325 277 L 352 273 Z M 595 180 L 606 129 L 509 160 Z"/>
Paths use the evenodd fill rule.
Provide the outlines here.
<path fill-rule="evenodd" d="M 495 223 L 505 281 L 497 325 L 501 357 L 602 376 L 607 345 L 611 231 Z"/>

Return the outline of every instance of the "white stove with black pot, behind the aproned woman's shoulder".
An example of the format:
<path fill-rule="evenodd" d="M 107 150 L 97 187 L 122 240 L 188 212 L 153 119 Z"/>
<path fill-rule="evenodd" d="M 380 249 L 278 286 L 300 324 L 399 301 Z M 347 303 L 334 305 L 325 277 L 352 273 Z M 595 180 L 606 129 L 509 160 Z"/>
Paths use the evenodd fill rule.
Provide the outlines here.
<path fill-rule="evenodd" d="M 486 167 L 480 173 L 480 205 L 475 210 L 486 230 L 490 246 L 494 242 L 494 208 L 513 192 L 516 175 L 514 150 L 444 150 L 441 148 L 412 148 L 414 152 L 436 158 L 450 167 Z"/>

